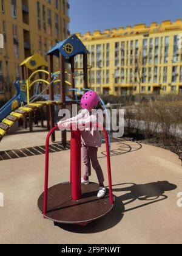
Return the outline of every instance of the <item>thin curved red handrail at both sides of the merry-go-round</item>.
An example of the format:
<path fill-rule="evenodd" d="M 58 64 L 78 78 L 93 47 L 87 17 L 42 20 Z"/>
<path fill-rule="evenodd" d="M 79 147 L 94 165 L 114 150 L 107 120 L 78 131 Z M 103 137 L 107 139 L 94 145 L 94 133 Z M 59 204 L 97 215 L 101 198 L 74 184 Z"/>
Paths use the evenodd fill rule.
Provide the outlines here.
<path fill-rule="evenodd" d="M 104 127 L 99 126 L 99 124 L 95 125 L 103 130 L 105 138 L 106 138 L 106 152 L 107 152 L 107 172 L 108 172 L 108 182 L 109 182 L 109 201 L 110 204 L 113 204 L 113 193 L 112 193 L 112 175 L 111 175 L 111 167 L 110 167 L 110 154 L 109 154 L 109 139 L 106 129 Z M 47 194 L 48 194 L 48 182 L 49 182 L 49 141 L 50 136 L 55 130 L 59 129 L 59 127 L 54 127 L 49 131 L 45 141 L 45 179 L 44 179 L 44 218 L 46 218 L 47 213 Z"/>

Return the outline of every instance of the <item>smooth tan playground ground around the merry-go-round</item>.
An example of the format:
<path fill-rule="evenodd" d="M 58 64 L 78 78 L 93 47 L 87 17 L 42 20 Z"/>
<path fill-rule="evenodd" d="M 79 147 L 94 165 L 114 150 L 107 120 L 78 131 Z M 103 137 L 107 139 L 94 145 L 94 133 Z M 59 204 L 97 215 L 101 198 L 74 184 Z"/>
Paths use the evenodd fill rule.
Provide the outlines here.
<path fill-rule="evenodd" d="M 46 133 L 8 135 L 0 150 L 41 146 Z M 182 168 L 178 156 L 131 141 L 112 143 L 112 150 L 116 204 L 107 216 L 87 227 L 56 227 L 39 213 L 44 155 L 1 161 L 4 207 L 0 207 L 0 243 L 182 243 L 182 208 L 177 207 Z M 99 149 L 99 160 L 107 177 L 103 151 L 104 145 Z M 49 185 L 68 180 L 69 151 L 51 154 Z M 92 181 L 96 182 L 95 173 Z"/>

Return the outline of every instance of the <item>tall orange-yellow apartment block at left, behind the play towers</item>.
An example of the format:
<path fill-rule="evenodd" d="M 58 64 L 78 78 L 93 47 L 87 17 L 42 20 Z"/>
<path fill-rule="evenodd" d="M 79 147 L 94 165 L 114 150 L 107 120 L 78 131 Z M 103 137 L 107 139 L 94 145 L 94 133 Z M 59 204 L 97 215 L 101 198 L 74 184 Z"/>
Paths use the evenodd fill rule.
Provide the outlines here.
<path fill-rule="evenodd" d="M 68 0 L 0 0 L 0 97 L 11 91 L 13 80 L 19 79 L 19 64 L 38 52 L 46 52 L 70 35 Z"/>

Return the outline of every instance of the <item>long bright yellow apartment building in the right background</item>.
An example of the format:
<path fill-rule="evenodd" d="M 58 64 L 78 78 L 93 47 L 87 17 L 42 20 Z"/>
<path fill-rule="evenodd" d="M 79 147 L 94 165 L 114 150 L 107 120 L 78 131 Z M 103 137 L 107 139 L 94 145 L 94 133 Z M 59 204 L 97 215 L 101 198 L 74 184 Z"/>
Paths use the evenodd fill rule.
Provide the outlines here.
<path fill-rule="evenodd" d="M 98 93 L 182 94 L 182 21 L 77 34 L 90 52 L 90 88 Z M 81 68 L 83 60 L 76 59 Z M 76 77 L 83 87 L 83 77 Z"/>

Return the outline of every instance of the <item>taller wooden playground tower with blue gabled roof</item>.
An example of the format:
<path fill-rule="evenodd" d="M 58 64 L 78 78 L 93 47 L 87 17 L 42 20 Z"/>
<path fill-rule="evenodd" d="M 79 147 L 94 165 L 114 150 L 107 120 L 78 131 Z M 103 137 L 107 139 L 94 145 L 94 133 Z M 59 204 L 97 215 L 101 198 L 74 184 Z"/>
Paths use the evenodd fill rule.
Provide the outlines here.
<path fill-rule="evenodd" d="M 48 52 L 48 63 L 49 63 L 49 82 L 52 81 L 52 74 L 54 71 L 53 57 L 59 58 L 60 67 L 60 91 L 61 91 L 61 102 L 62 108 L 66 108 L 67 105 L 72 105 L 75 103 L 75 93 L 72 91 L 72 101 L 66 101 L 66 63 L 70 64 L 70 88 L 75 89 L 75 56 L 78 54 L 83 54 L 83 80 L 84 88 L 88 88 L 88 64 L 87 64 L 87 51 L 86 46 L 79 40 L 76 35 L 72 35 L 67 40 L 64 40 L 55 46 Z M 49 87 L 50 101 L 54 101 L 54 88 Z M 50 105 L 50 129 L 55 127 L 54 120 L 54 107 Z M 52 141 L 55 141 L 55 133 L 52 134 Z M 62 144 L 66 146 L 66 131 L 62 132 Z"/>

